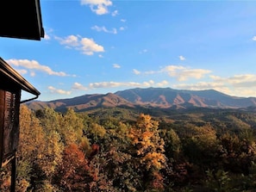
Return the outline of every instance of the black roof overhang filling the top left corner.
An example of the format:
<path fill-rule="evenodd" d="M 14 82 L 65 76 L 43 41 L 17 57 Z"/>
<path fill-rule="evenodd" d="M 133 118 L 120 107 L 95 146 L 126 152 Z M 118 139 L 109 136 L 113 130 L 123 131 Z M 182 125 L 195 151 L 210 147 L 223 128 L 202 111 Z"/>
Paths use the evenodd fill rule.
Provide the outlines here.
<path fill-rule="evenodd" d="M 1 0 L 0 36 L 41 40 L 44 28 L 40 0 Z"/>

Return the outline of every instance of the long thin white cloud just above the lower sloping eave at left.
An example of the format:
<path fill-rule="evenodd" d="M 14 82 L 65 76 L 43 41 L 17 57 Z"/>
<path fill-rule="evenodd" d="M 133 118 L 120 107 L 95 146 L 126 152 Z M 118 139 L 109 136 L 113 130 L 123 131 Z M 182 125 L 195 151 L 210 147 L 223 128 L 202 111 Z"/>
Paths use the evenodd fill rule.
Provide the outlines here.
<path fill-rule="evenodd" d="M 46 72 L 48 75 L 53 75 L 53 76 L 61 76 L 61 77 L 69 76 L 68 74 L 66 74 L 63 71 L 53 71 L 47 65 L 41 65 L 36 60 L 9 59 L 9 60 L 6 60 L 6 62 L 9 63 L 9 65 L 12 65 L 12 66 L 24 67 L 24 68 L 30 70 L 31 76 L 35 75 L 34 71 L 43 71 L 43 72 Z"/>

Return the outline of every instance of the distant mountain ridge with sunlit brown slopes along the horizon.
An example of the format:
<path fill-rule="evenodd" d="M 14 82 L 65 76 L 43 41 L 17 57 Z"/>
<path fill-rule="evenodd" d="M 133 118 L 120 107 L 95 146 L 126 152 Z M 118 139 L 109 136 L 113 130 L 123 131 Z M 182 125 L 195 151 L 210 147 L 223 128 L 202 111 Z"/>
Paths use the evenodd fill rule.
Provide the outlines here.
<path fill-rule="evenodd" d="M 62 111 L 73 108 L 248 108 L 256 107 L 256 97 L 228 96 L 216 90 L 173 90 L 171 88 L 134 88 L 116 93 L 92 94 L 49 102 L 28 102 L 28 108 L 46 107 Z"/>

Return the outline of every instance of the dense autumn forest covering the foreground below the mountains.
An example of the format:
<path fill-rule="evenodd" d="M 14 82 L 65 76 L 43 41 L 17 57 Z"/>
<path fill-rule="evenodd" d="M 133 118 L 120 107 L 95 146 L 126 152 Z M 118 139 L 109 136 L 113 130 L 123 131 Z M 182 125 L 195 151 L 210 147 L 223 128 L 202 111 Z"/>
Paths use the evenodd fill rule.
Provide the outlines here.
<path fill-rule="evenodd" d="M 16 191 L 255 191 L 255 114 L 205 114 L 22 105 Z M 9 191 L 9 165 L 0 173 Z"/>

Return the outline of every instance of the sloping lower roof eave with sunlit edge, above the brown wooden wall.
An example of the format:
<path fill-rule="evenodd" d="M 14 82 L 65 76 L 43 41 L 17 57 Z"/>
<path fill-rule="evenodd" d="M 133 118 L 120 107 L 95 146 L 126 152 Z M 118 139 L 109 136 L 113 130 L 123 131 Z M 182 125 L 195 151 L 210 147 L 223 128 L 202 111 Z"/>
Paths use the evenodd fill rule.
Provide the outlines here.
<path fill-rule="evenodd" d="M 36 90 L 32 84 L 29 84 L 25 78 L 23 78 L 10 65 L 8 65 L 1 57 L 0 73 L 3 73 L 4 76 L 9 77 L 9 79 L 11 79 L 14 83 L 18 84 L 22 90 L 25 90 L 28 93 L 33 94 L 34 96 L 39 96 L 41 94 L 39 90 Z"/>

